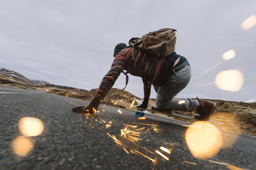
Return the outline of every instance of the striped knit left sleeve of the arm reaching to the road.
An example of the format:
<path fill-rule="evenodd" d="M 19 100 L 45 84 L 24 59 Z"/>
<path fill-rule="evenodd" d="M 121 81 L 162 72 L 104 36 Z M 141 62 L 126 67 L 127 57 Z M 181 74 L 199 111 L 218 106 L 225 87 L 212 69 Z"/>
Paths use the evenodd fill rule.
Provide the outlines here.
<path fill-rule="evenodd" d="M 122 72 L 125 66 L 125 57 L 124 52 L 119 52 L 115 59 L 113 60 L 112 66 L 108 73 L 102 79 L 99 89 L 97 90 L 96 96 L 100 99 L 104 99 L 104 97 L 108 94 L 109 90 L 115 84 L 116 79 Z"/>

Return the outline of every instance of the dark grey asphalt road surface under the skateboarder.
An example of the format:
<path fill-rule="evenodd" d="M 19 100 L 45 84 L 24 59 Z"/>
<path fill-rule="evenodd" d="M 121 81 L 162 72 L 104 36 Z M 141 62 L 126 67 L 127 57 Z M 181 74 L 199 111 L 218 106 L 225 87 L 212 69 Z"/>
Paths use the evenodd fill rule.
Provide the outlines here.
<path fill-rule="evenodd" d="M 228 169 L 223 164 L 209 162 L 209 159 L 193 157 L 184 139 L 187 127 L 181 126 L 185 124 L 183 122 L 155 115 L 138 120 L 133 111 L 122 109 L 120 114 L 118 108 L 103 108 L 103 104 L 99 110 L 105 112 L 100 111 L 90 122 L 83 114 L 72 112 L 72 108 L 84 104 L 88 102 L 0 86 L 0 169 Z M 13 140 L 21 135 L 18 123 L 22 117 L 36 117 L 44 122 L 44 132 L 31 137 L 34 146 L 26 157 L 16 155 L 12 147 Z M 109 129 L 103 120 L 113 122 Z M 163 129 L 159 132 L 150 129 L 141 136 L 143 140 L 138 144 L 154 152 L 160 146 L 170 148 L 169 143 L 175 143 L 172 153 L 165 154 L 170 160 L 156 152 L 152 154 L 134 147 L 148 157 L 157 158 L 157 164 L 153 164 L 143 155 L 126 153 L 107 135 L 118 137 L 123 124 L 134 125 L 134 122 L 157 124 L 158 129 Z M 150 126 L 140 127 L 147 129 Z M 230 132 L 223 134 L 227 141 L 228 136 L 234 135 Z M 232 146 L 221 149 L 210 160 L 256 169 L 256 138 L 240 134 Z"/>

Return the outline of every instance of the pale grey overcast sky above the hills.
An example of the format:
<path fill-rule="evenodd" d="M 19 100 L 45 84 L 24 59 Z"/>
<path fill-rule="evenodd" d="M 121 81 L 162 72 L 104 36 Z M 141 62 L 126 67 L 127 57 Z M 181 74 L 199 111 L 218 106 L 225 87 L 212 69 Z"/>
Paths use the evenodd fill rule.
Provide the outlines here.
<path fill-rule="evenodd" d="M 256 1 L 0 1 L 0 67 L 31 79 L 81 89 L 99 87 L 113 62 L 116 43 L 128 43 L 163 27 L 177 29 L 176 52 L 192 67 L 191 81 L 177 97 L 232 101 L 256 99 L 256 26 L 241 23 L 256 15 Z M 233 49 L 236 57 L 223 60 Z M 198 74 L 219 66 L 193 80 Z M 221 71 L 239 70 L 238 92 L 212 83 Z M 114 87 L 122 89 L 120 74 Z M 141 78 L 125 89 L 143 97 Z M 152 89 L 150 97 L 156 97 Z"/>

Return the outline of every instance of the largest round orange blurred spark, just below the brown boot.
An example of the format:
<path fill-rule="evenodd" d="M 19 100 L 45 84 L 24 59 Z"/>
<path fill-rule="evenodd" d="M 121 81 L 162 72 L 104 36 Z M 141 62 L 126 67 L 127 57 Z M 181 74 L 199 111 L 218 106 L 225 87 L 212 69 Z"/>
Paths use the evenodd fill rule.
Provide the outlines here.
<path fill-rule="evenodd" d="M 185 140 L 192 155 L 208 159 L 216 155 L 222 146 L 221 132 L 211 123 L 198 121 L 188 127 Z"/>

